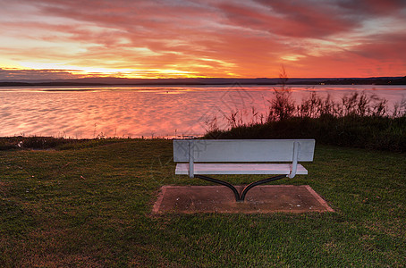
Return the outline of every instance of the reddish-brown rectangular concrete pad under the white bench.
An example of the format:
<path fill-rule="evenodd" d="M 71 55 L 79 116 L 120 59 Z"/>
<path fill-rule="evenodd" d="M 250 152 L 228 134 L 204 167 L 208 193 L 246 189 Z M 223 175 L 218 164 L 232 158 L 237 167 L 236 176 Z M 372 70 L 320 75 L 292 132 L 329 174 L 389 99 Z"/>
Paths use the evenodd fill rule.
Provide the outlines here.
<path fill-rule="evenodd" d="M 237 186 L 241 191 L 244 186 Z M 245 202 L 235 202 L 224 186 L 163 186 L 153 213 L 308 213 L 334 212 L 309 185 L 263 185 L 252 188 Z"/>

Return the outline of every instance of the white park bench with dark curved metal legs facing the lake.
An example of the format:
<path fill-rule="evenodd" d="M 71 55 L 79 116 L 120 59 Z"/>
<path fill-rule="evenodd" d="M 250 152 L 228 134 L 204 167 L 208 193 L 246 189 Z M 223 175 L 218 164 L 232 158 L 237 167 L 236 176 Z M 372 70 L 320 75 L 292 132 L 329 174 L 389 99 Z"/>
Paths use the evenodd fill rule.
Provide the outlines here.
<path fill-rule="evenodd" d="M 173 139 L 173 162 L 175 174 L 224 185 L 241 202 L 250 188 L 308 174 L 298 162 L 313 161 L 314 148 L 314 139 Z M 232 184 L 207 176 L 222 174 L 277 176 L 252 182 L 240 194 Z"/>

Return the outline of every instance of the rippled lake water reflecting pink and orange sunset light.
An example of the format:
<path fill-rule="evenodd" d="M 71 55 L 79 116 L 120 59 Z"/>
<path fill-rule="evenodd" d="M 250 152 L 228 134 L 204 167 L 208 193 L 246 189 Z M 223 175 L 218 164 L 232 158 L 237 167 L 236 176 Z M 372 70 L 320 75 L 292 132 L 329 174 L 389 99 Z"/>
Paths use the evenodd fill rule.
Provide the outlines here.
<path fill-rule="evenodd" d="M 266 113 L 274 86 L 148 86 L 0 88 L 0 137 L 151 138 L 198 136 L 224 115 L 242 111 L 244 121 Z M 334 100 L 365 92 L 388 100 L 406 99 L 406 86 L 292 86 L 297 104 L 310 92 Z"/>

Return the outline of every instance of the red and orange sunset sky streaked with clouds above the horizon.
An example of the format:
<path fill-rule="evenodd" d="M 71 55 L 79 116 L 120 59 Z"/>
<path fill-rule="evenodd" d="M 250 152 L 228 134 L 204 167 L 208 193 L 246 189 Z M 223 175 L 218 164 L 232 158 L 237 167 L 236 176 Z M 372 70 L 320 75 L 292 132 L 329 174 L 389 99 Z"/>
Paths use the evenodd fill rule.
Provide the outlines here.
<path fill-rule="evenodd" d="M 0 80 L 406 75 L 405 0 L 0 0 Z"/>

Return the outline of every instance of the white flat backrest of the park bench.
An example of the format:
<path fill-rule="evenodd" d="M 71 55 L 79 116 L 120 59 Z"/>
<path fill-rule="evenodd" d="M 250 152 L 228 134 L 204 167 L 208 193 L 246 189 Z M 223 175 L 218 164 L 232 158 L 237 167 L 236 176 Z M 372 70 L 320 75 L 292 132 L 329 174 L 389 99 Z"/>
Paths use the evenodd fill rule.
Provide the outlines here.
<path fill-rule="evenodd" d="M 295 143 L 297 161 L 313 161 L 314 139 L 173 139 L 173 161 L 292 162 Z"/>

